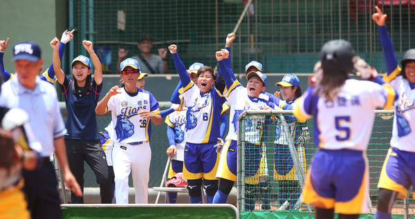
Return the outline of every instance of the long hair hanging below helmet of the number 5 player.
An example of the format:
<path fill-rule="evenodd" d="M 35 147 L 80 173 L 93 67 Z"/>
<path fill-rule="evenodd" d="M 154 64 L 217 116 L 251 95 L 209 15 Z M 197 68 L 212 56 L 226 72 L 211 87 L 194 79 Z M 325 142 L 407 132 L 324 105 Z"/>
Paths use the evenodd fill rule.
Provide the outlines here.
<path fill-rule="evenodd" d="M 329 101 L 333 101 L 334 97 L 340 92 L 344 82 L 347 80 L 347 73 L 323 73 L 320 81 L 319 95 L 323 96 Z"/>

